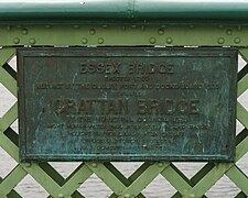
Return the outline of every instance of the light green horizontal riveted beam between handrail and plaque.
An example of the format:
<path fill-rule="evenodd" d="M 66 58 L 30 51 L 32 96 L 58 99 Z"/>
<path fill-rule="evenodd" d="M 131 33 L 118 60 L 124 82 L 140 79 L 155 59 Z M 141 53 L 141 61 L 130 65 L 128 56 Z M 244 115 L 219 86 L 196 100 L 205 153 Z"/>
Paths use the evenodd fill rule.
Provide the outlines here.
<path fill-rule="evenodd" d="M 239 25 L 80 24 L 0 26 L 7 46 L 247 46 L 248 28 Z M 73 36 L 72 36 L 73 35 Z M 204 38 L 203 38 L 204 37 Z M 4 59 L 6 61 L 6 59 Z"/>

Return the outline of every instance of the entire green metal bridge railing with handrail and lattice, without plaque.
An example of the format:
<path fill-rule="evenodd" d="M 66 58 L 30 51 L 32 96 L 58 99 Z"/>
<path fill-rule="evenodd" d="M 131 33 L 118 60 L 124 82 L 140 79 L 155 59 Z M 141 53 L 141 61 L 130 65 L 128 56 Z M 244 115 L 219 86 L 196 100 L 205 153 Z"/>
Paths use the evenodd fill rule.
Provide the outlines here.
<path fill-rule="evenodd" d="M 18 97 L 17 72 L 9 61 L 18 47 L 235 46 L 248 62 L 248 2 L 1 1 L 0 45 L 0 82 L 14 97 Z M 240 97 L 248 89 L 248 66 L 239 70 L 237 84 Z M 17 166 L 0 178 L 0 197 L 21 197 L 14 187 L 30 175 L 50 197 L 82 198 L 84 195 L 78 188 L 93 174 L 112 190 L 111 198 L 144 197 L 142 190 L 159 175 L 176 189 L 172 197 L 206 197 L 207 190 L 223 176 L 240 189 L 237 198 L 248 197 L 248 177 L 237 165 L 248 152 L 248 111 L 238 100 L 237 120 L 244 130 L 236 135 L 235 162 L 208 162 L 192 178 L 173 162 L 143 162 L 128 178 L 112 162 L 82 162 L 65 178 L 47 162 L 20 163 L 19 134 L 11 127 L 17 119 L 18 102 L 0 118 L 0 146 L 17 162 Z"/>

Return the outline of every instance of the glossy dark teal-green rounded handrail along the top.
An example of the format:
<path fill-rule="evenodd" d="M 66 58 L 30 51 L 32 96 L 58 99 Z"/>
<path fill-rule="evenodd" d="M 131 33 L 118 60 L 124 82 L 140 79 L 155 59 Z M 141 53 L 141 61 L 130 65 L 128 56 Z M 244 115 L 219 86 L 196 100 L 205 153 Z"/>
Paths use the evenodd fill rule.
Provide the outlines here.
<path fill-rule="evenodd" d="M 61 0 L 1 1 L 1 20 L 30 19 L 222 19 L 247 20 L 248 2 L 245 0 Z"/>

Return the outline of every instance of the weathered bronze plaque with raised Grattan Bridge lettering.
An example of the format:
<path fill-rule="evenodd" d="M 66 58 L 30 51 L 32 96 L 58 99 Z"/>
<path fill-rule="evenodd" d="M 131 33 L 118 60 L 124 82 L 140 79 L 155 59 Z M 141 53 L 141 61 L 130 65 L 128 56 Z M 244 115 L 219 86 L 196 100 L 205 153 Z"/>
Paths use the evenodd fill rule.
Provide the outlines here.
<path fill-rule="evenodd" d="M 234 161 L 237 51 L 18 50 L 20 158 Z"/>

